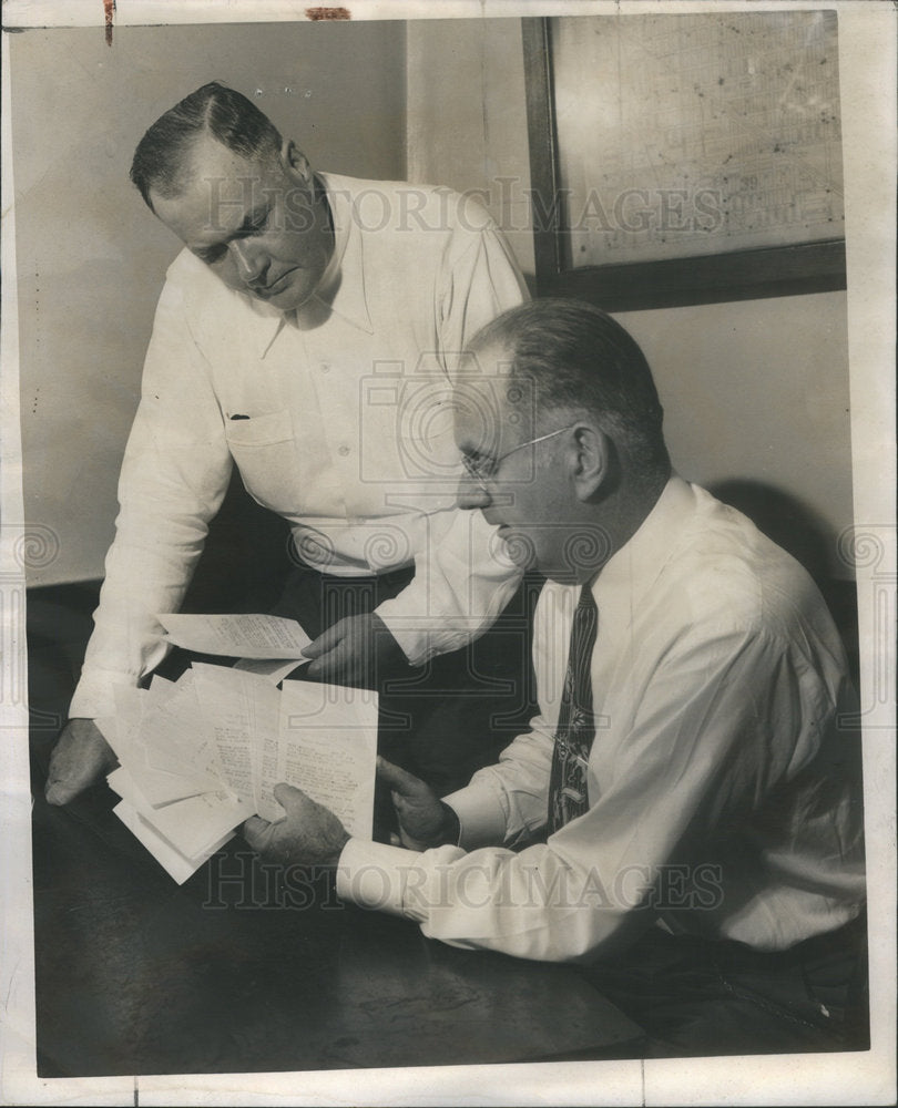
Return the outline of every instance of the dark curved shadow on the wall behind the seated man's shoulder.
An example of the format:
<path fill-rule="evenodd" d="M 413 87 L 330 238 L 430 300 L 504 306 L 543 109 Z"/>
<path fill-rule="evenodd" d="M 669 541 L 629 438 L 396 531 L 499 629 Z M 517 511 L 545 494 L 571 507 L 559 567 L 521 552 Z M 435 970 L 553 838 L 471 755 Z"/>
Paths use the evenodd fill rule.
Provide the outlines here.
<path fill-rule="evenodd" d="M 734 479 L 708 485 L 708 491 L 737 509 L 758 531 L 782 546 L 807 570 L 823 593 L 841 635 L 855 687 L 859 688 L 857 589 L 854 581 L 837 579 L 830 572 L 830 529 L 823 516 L 796 496 L 763 481 Z"/>

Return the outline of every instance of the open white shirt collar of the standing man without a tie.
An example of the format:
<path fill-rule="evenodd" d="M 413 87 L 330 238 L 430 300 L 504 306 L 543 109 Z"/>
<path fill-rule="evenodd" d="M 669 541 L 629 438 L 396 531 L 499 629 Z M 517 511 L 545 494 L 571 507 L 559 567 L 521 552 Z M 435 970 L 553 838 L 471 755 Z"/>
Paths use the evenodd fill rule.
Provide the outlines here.
<path fill-rule="evenodd" d="M 354 218 L 351 195 L 341 178 L 330 173 L 316 174 L 325 189 L 334 227 L 334 253 L 309 300 L 295 311 L 283 312 L 249 297 L 253 308 L 272 317 L 264 329 L 261 357 L 264 358 L 285 327 L 310 330 L 331 315 L 374 335 L 365 295 L 365 259 L 361 236 Z M 245 294 L 244 294 L 245 295 Z"/>

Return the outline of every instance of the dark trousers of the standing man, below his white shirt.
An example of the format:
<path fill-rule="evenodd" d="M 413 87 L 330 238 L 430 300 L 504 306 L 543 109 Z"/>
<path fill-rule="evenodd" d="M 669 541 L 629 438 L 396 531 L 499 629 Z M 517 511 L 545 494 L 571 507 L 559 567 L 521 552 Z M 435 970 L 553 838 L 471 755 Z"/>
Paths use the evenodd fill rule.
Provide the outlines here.
<path fill-rule="evenodd" d="M 296 567 L 273 613 L 297 619 L 315 638 L 338 619 L 396 596 L 414 573 L 358 578 Z M 541 577 L 525 577 L 497 623 L 465 648 L 377 675 L 380 753 L 439 796 L 492 765 L 535 711 L 532 615 L 541 585 Z M 382 837 L 384 821 L 391 822 L 388 798 L 378 796 L 377 813 Z"/>

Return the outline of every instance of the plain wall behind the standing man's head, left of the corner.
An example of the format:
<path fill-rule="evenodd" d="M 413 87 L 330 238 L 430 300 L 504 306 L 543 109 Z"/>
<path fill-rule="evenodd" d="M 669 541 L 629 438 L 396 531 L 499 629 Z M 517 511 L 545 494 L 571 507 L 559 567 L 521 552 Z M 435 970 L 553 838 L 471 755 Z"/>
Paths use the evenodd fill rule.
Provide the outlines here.
<path fill-rule="evenodd" d="M 210 80 L 249 95 L 322 168 L 405 175 L 401 23 L 29 30 L 10 35 L 25 519 L 102 576 L 165 269 L 180 248 L 127 179 L 134 146 Z M 6 227 L 4 227 L 6 230 Z"/>

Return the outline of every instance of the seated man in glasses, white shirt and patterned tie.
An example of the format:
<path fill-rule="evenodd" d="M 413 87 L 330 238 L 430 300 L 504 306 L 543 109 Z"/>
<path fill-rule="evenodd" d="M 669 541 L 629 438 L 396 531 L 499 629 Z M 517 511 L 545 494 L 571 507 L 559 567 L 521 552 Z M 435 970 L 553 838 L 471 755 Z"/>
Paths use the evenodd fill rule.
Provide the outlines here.
<path fill-rule="evenodd" d="M 504 377 L 498 401 L 488 375 L 459 389 L 459 499 L 549 578 L 540 714 L 442 799 L 381 761 L 401 845 L 287 786 L 247 841 L 451 945 L 584 963 L 653 1051 L 857 1045 L 857 736 L 816 586 L 672 472 L 649 367 L 603 312 L 511 309 L 470 358 Z"/>

